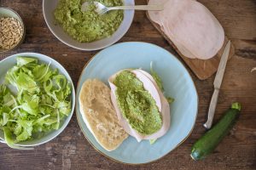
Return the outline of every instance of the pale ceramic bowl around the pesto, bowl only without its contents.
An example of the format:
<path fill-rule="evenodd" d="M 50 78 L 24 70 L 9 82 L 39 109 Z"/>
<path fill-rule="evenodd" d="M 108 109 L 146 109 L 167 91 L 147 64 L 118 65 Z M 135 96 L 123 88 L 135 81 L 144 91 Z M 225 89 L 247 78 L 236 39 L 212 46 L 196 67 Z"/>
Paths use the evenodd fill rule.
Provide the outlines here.
<path fill-rule="evenodd" d="M 55 37 L 66 45 L 80 50 L 91 51 L 106 48 L 112 45 L 114 42 L 119 41 L 119 39 L 125 35 L 126 31 L 129 30 L 134 16 L 134 10 L 125 10 L 123 22 L 119 26 L 119 29 L 115 31 L 111 37 L 103 38 L 96 42 L 82 43 L 74 40 L 72 37 L 67 35 L 65 31 L 63 31 L 61 26 L 55 24 L 54 10 L 58 2 L 59 0 L 43 0 L 44 20 L 49 27 L 49 30 L 55 35 Z M 134 0 L 124 0 L 124 4 L 134 5 Z"/>

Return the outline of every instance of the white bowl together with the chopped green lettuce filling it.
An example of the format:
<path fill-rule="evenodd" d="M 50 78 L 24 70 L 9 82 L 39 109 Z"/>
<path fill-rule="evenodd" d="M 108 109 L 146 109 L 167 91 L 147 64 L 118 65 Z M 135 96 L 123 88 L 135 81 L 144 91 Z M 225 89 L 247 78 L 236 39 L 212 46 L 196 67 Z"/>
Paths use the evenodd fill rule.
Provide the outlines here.
<path fill-rule="evenodd" d="M 75 104 L 65 68 L 44 54 L 22 53 L 0 61 L 0 139 L 29 150 L 60 134 Z"/>

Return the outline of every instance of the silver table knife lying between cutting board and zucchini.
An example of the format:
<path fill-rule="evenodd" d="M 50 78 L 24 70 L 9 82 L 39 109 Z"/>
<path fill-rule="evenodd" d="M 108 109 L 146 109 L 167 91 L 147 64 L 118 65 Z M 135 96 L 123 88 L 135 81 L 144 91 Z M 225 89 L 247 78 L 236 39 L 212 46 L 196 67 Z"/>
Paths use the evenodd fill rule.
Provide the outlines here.
<path fill-rule="evenodd" d="M 211 103 L 208 110 L 207 122 L 204 124 L 204 127 L 206 127 L 207 129 L 212 127 L 213 116 L 214 116 L 216 105 L 218 102 L 218 92 L 224 77 L 224 71 L 227 65 L 227 61 L 229 59 L 230 47 L 231 47 L 231 42 L 229 41 L 226 47 L 224 48 L 224 52 L 218 64 L 218 71 L 216 73 L 216 76 L 213 82 L 214 92 L 212 94 L 212 99 L 211 99 Z"/>

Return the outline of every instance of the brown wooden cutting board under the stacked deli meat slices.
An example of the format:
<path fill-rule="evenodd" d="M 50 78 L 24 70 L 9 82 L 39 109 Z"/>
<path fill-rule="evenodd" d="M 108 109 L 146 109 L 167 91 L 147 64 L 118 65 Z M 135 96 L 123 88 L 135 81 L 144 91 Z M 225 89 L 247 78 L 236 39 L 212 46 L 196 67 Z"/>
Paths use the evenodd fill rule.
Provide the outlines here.
<path fill-rule="evenodd" d="M 148 12 L 147 12 L 148 20 L 150 20 Z M 153 20 L 150 20 L 152 25 L 160 32 L 160 34 L 166 38 L 166 41 L 169 42 L 169 44 L 176 50 L 177 54 L 180 55 L 180 57 L 185 61 L 187 65 L 189 65 L 189 68 L 195 73 L 196 77 L 198 77 L 201 80 L 205 80 L 209 77 L 211 77 L 217 70 L 218 70 L 218 64 L 221 58 L 221 55 L 223 54 L 224 48 L 229 41 L 228 37 L 225 37 L 224 40 L 224 46 L 218 51 L 218 54 L 216 54 L 211 59 L 189 59 L 188 57 L 185 57 L 183 54 L 181 54 L 176 46 L 173 44 L 172 40 L 166 36 L 165 32 L 160 29 L 160 26 L 156 23 L 154 23 Z M 229 59 L 235 54 L 235 48 L 234 45 L 231 43 L 230 48 L 230 56 Z"/>

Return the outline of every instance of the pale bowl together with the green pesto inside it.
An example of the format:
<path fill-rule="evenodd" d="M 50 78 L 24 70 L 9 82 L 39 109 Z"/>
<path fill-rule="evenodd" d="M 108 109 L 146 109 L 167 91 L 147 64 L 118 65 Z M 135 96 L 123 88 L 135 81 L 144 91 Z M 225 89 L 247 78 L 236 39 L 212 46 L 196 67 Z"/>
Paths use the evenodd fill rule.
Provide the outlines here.
<path fill-rule="evenodd" d="M 129 30 L 134 10 L 113 10 L 99 15 L 91 4 L 81 10 L 84 2 L 93 0 L 43 0 L 44 20 L 61 42 L 80 50 L 106 48 L 119 41 Z M 134 0 L 97 0 L 104 5 L 134 5 Z"/>

